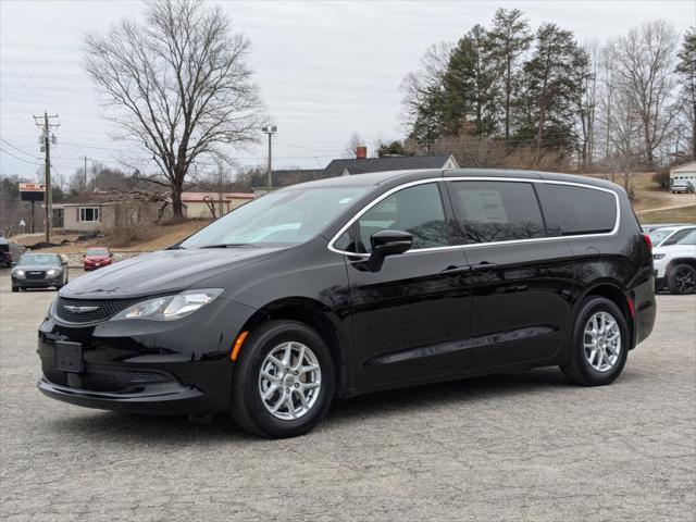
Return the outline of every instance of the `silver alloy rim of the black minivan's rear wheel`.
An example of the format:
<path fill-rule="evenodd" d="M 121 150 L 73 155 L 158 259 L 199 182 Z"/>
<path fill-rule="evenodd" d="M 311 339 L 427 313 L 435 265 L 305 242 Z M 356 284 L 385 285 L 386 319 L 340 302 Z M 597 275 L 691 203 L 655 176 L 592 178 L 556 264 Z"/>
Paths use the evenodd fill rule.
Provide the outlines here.
<path fill-rule="evenodd" d="M 621 353 L 621 330 L 609 312 L 596 312 L 585 324 L 584 347 L 589 365 L 597 372 L 608 372 Z"/>

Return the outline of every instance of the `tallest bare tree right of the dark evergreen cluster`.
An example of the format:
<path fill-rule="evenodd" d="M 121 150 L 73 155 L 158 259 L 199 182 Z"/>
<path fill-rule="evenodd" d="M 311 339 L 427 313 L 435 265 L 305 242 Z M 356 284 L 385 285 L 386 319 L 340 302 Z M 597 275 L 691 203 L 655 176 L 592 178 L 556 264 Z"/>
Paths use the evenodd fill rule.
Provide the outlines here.
<path fill-rule="evenodd" d="M 642 154 L 648 164 L 655 163 L 675 115 L 671 99 L 676 41 L 672 26 L 656 21 L 631 29 L 612 46 L 617 85 L 637 114 Z"/>

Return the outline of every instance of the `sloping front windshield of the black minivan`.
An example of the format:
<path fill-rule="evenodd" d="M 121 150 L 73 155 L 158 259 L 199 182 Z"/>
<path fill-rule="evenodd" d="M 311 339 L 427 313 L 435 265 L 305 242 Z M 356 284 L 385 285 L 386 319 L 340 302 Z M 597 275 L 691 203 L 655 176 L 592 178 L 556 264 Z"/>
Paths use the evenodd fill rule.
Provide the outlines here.
<path fill-rule="evenodd" d="M 368 187 L 316 187 L 270 192 L 235 209 L 181 244 L 206 246 L 295 245 L 320 234 Z"/>

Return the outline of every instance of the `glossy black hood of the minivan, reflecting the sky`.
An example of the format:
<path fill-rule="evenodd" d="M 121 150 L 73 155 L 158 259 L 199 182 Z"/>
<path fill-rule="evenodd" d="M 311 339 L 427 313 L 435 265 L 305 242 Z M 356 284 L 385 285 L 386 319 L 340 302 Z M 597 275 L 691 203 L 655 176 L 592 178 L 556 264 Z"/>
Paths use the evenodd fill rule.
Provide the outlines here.
<path fill-rule="evenodd" d="M 199 281 L 233 271 L 279 248 L 196 248 L 162 250 L 110 264 L 70 282 L 60 295 L 80 298 L 140 297 L 184 290 Z"/>

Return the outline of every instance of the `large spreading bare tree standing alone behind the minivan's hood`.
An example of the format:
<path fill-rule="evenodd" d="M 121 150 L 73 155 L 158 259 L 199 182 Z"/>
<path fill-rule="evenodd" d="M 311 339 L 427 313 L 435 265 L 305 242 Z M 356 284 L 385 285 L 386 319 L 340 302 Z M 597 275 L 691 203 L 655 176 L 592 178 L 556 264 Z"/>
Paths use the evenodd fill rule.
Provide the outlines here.
<path fill-rule="evenodd" d="M 152 0 L 146 22 L 122 20 L 85 40 L 85 67 L 108 117 L 152 156 L 172 191 L 175 219 L 192 162 L 258 139 L 261 102 L 246 64 L 249 40 L 220 7 Z"/>

